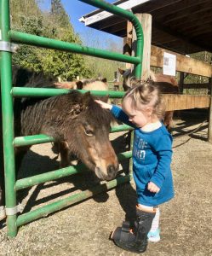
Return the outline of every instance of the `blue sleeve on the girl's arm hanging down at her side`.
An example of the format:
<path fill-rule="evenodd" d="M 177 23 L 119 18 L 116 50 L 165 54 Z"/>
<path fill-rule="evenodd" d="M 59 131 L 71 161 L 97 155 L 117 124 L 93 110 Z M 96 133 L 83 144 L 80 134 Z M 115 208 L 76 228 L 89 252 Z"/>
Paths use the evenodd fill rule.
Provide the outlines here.
<path fill-rule="evenodd" d="M 153 138 L 152 138 L 153 139 Z M 163 134 L 152 143 L 152 148 L 158 157 L 158 166 L 152 175 L 151 182 L 155 183 L 158 188 L 163 186 L 163 182 L 168 172 L 172 159 L 172 137 L 169 134 Z"/>

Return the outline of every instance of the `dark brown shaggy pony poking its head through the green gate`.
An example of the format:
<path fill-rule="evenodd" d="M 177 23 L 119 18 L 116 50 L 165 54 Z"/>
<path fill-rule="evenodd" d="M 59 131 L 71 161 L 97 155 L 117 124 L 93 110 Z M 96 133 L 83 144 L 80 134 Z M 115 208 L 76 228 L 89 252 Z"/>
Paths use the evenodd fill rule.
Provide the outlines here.
<path fill-rule="evenodd" d="M 16 70 L 27 73 L 26 70 Z M 13 83 L 20 86 L 20 80 L 26 79 L 27 87 L 53 87 L 47 77 L 33 74 L 27 78 L 15 77 Z M 51 86 L 51 84 L 53 84 Z M 95 97 L 89 92 L 82 94 L 72 90 L 68 94 L 49 98 L 15 98 L 14 99 L 14 134 L 30 136 L 46 134 L 54 137 L 59 145 L 61 164 L 69 166 L 69 154 L 72 152 L 82 162 L 103 180 L 116 177 L 118 170 L 117 155 L 109 141 L 112 114 L 95 102 Z M 15 148 L 16 169 L 20 166 L 23 156 L 30 146 Z M 1 184 L 3 186 L 3 170 L 1 169 Z M 3 188 L 0 187 L 0 192 Z M 1 194 L 1 193 L 0 193 Z M 3 198 L 0 195 L 0 202 Z M 1 207 L 1 205 L 0 205 Z"/>

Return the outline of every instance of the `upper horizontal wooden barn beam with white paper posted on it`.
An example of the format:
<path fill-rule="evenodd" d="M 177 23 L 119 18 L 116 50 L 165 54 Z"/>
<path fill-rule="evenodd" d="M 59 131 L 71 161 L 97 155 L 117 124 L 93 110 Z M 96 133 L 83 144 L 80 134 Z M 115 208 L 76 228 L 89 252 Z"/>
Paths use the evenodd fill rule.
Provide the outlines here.
<path fill-rule="evenodd" d="M 152 67 L 163 67 L 163 53 L 168 52 L 176 55 L 176 71 L 196 74 L 203 77 L 212 77 L 212 66 L 198 61 L 185 55 L 176 54 L 175 52 L 153 46 L 151 48 L 151 62 Z"/>

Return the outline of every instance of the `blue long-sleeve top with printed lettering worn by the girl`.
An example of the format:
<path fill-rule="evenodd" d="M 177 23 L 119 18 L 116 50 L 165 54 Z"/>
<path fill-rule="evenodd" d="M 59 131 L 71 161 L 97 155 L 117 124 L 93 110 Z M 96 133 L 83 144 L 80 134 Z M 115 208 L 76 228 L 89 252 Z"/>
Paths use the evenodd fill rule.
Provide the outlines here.
<path fill-rule="evenodd" d="M 129 122 L 121 108 L 113 105 L 112 114 L 126 125 L 135 128 L 133 145 L 133 175 L 138 203 L 155 207 L 174 197 L 174 186 L 170 168 L 172 159 L 172 137 L 162 124 L 154 131 L 142 131 Z M 149 182 L 155 183 L 160 191 L 147 189 Z"/>

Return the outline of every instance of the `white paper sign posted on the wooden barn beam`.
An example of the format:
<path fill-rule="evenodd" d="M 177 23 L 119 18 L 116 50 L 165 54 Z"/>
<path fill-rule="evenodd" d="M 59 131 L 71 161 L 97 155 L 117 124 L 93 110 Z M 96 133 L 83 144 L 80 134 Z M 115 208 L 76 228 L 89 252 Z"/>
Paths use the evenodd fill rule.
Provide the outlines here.
<path fill-rule="evenodd" d="M 175 76 L 176 74 L 176 55 L 164 52 L 163 55 L 163 74 Z"/>

